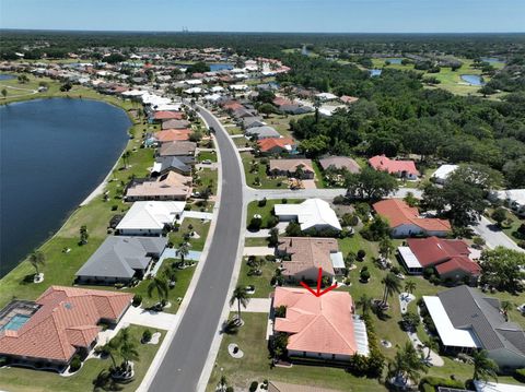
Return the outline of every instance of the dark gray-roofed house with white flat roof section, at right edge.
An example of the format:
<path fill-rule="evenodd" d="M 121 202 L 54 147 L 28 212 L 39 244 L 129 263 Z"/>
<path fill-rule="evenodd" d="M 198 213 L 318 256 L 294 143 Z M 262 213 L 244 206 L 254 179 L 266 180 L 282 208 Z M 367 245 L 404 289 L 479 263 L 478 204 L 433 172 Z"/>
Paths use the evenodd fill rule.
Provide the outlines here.
<path fill-rule="evenodd" d="M 505 320 L 499 299 L 465 285 L 423 299 L 446 347 L 486 349 L 501 369 L 525 367 L 525 332 Z"/>

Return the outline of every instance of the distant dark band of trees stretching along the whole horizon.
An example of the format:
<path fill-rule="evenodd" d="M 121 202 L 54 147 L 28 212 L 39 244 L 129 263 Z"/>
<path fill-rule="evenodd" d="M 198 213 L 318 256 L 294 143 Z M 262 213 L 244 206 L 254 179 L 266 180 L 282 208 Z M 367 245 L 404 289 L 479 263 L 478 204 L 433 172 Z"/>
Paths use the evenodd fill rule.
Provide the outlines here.
<path fill-rule="evenodd" d="M 14 59 L 14 52 L 27 58 L 47 54 L 60 58 L 86 47 L 225 47 L 240 55 L 281 57 L 283 49 L 306 45 L 316 52 L 335 49 L 341 58 L 372 54 L 435 54 L 467 58 L 492 55 L 525 54 L 524 34 L 284 34 L 284 33 L 131 33 L 131 32 L 0 32 L 2 59 Z M 48 47 L 40 44 L 48 44 Z M 37 46 L 36 48 L 35 45 Z M 24 50 L 24 47 L 31 47 Z"/>

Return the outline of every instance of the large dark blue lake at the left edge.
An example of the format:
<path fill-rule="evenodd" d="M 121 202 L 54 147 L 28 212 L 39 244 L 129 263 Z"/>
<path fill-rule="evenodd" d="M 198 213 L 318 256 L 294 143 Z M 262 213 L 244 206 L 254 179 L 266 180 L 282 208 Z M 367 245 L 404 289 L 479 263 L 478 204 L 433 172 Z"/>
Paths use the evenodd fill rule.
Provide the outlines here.
<path fill-rule="evenodd" d="M 128 141 L 126 112 L 86 99 L 0 107 L 0 276 L 56 233 Z"/>

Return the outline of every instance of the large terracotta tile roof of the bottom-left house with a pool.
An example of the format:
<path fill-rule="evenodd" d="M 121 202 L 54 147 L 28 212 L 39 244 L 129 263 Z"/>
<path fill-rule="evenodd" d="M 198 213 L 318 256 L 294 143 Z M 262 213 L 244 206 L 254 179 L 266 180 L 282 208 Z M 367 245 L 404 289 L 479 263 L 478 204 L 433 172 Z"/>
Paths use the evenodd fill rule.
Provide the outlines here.
<path fill-rule="evenodd" d="M 96 337 L 102 319 L 117 321 L 132 294 L 50 286 L 18 331 L 0 331 L 0 354 L 69 361 Z"/>

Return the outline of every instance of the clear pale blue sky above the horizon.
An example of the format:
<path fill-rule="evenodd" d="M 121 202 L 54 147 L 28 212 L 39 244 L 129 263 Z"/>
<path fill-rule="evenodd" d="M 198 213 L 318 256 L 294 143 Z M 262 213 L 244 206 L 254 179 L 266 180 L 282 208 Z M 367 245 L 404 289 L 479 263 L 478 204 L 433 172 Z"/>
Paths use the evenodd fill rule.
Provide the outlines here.
<path fill-rule="evenodd" d="M 1 28 L 525 32 L 525 0 L 0 0 Z"/>

